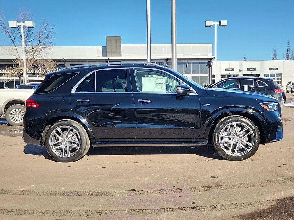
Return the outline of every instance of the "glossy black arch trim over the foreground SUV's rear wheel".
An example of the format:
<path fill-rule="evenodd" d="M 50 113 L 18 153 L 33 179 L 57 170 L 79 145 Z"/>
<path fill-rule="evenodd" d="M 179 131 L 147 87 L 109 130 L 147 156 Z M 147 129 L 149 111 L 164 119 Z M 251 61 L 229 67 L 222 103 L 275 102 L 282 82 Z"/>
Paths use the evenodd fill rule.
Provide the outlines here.
<path fill-rule="evenodd" d="M 57 121 L 66 120 L 66 119 L 76 121 L 77 123 L 81 124 L 81 126 L 85 128 L 86 133 L 88 134 L 88 137 L 90 138 L 90 140 L 94 138 L 93 131 L 88 121 L 86 121 L 81 115 L 68 112 L 68 113 L 62 113 L 62 114 L 60 113 L 53 114 L 53 115 L 50 115 L 46 120 L 44 120 L 45 122 L 42 126 L 41 135 L 40 135 L 40 144 L 44 145 L 46 132 L 48 131 L 51 125 L 53 125 Z"/>

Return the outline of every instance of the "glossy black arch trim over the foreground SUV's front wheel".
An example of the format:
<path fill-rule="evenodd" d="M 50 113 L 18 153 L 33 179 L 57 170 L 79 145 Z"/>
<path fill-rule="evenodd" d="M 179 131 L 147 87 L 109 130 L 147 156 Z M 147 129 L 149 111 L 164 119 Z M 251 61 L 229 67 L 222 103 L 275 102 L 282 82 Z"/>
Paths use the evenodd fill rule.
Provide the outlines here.
<path fill-rule="evenodd" d="M 252 113 L 250 109 L 230 109 L 227 111 L 218 112 L 214 114 L 211 117 L 210 121 L 207 123 L 205 133 L 204 133 L 204 138 L 207 138 L 208 143 L 212 143 L 211 136 L 217 123 L 228 116 L 232 116 L 232 117 L 240 116 L 252 121 L 257 126 L 258 131 L 260 133 L 260 144 L 264 144 L 266 142 L 265 127 L 264 127 L 266 126 L 266 123 L 260 115 L 256 113 L 255 114 Z"/>

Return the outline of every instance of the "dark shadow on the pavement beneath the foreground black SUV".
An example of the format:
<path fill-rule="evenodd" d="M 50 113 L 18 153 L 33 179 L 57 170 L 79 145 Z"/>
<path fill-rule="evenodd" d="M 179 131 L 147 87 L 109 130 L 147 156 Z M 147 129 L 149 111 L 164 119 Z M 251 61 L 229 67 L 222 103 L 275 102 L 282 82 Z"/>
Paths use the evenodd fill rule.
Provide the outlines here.
<path fill-rule="evenodd" d="M 33 144 L 24 146 L 24 153 L 41 156 L 53 160 L 46 148 Z M 90 148 L 86 155 L 161 155 L 161 154 L 195 154 L 206 158 L 224 160 L 212 145 L 208 146 L 133 146 L 133 147 L 95 147 Z"/>

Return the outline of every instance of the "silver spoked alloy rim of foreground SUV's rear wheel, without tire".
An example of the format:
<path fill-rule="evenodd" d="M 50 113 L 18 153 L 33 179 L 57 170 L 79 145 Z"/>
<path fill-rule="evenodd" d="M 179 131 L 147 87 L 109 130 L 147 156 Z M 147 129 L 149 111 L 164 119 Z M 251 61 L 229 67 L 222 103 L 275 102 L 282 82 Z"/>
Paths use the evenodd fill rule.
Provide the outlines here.
<path fill-rule="evenodd" d="M 70 126 L 59 126 L 51 132 L 49 145 L 55 155 L 69 158 L 80 149 L 81 137 L 76 129 Z"/>

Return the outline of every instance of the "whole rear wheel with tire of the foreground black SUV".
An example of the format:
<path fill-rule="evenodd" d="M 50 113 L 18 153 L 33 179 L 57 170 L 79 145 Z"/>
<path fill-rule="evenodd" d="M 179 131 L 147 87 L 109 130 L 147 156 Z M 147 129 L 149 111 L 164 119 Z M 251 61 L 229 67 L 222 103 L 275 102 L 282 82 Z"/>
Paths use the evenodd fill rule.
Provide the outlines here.
<path fill-rule="evenodd" d="M 45 136 L 45 147 L 54 160 L 74 162 L 88 152 L 90 139 L 81 124 L 66 119 L 57 121 L 48 129 Z"/>

